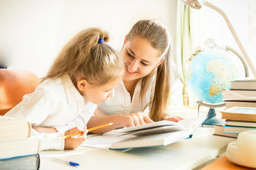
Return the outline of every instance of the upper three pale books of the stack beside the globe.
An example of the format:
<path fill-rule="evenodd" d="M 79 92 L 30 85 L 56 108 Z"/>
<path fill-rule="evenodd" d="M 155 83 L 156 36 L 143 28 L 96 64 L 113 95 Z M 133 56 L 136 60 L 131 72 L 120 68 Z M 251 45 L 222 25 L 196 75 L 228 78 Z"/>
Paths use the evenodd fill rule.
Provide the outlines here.
<path fill-rule="evenodd" d="M 231 89 L 223 91 L 225 107 L 256 107 L 256 79 L 231 81 Z"/>

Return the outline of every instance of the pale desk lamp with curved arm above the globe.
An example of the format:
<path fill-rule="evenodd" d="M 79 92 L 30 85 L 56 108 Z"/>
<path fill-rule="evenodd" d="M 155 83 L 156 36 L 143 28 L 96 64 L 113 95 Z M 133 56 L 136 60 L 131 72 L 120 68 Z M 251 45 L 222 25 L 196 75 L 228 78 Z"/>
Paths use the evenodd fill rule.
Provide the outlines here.
<path fill-rule="evenodd" d="M 255 67 L 253 66 L 250 58 L 248 57 L 247 52 L 245 51 L 245 48 L 242 46 L 242 42 L 238 38 L 237 33 L 235 33 L 235 30 L 234 30 L 232 24 L 230 23 L 228 16 L 220 8 L 218 8 L 217 6 L 214 6 L 213 4 L 210 4 L 210 2 L 208 2 L 208 1 L 203 1 L 201 4 L 197 0 L 182 0 L 182 1 L 187 6 L 189 6 L 191 8 L 195 8 L 195 9 L 200 9 L 202 7 L 201 4 L 203 4 L 204 6 L 208 6 L 209 8 L 212 8 L 214 11 L 217 11 L 218 13 L 220 13 L 221 16 L 223 16 L 223 18 L 225 19 L 225 22 L 228 25 L 230 32 L 233 35 L 233 38 L 235 39 L 235 42 L 237 43 L 238 47 L 240 48 L 242 55 L 245 57 L 245 60 L 248 64 L 248 66 L 250 67 L 252 74 L 256 78 Z"/>

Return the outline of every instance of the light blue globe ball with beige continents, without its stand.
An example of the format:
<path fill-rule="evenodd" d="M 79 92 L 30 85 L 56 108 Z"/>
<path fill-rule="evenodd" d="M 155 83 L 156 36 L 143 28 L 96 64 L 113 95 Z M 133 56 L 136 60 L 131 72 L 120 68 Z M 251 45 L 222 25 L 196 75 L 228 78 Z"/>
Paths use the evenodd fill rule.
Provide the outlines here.
<path fill-rule="evenodd" d="M 213 49 L 198 53 L 186 72 L 188 87 L 201 101 L 222 103 L 223 89 L 230 89 L 230 81 L 242 77 L 225 50 Z"/>

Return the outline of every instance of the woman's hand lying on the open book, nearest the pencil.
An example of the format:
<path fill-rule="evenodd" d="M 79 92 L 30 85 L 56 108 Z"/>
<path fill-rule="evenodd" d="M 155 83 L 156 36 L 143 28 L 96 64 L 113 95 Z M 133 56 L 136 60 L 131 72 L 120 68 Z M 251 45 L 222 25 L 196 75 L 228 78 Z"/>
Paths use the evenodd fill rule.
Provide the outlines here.
<path fill-rule="evenodd" d="M 138 125 L 153 123 L 154 121 L 142 113 L 130 113 L 117 115 L 117 118 L 114 122 L 121 127 L 134 127 Z"/>

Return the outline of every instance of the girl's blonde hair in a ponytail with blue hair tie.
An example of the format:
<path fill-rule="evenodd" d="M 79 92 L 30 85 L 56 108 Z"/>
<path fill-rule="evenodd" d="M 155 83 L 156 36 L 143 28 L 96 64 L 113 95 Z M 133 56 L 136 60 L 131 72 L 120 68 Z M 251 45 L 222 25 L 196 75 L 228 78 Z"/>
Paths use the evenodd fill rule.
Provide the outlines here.
<path fill-rule="evenodd" d="M 102 38 L 105 42 L 99 42 Z M 73 37 L 53 62 L 44 79 L 82 75 L 90 84 L 102 85 L 124 72 L 123 57 L 107 45 L 109 35 L 100 28 L 87 28 Z M 43 80 L 44 80 L 43 79 Z"/>

